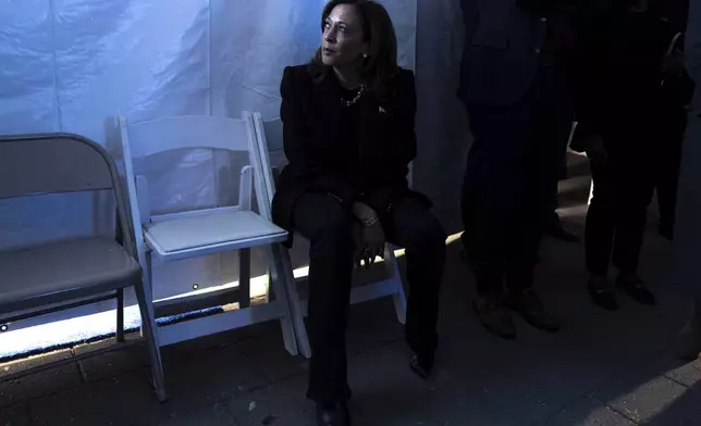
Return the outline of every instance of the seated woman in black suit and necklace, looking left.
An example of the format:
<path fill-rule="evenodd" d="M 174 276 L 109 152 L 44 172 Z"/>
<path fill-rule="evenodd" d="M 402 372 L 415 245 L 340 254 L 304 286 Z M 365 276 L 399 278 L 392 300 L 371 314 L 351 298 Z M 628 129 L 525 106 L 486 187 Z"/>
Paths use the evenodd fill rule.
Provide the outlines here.
<path fill-rule="evenodd" d="M 414 74 L 396 64 L 386 10 L 332 0 L 311 63 L 285 68 L 281 117 L 290 164 L 273 218 L 311 241 L 308 397 L 320 425 L 348 425 L 346 313 L 354 265 L 371 264 L 385 240 L 406 248 L 406 338 L 411 369 L 426 378 L 438 344 L 445 233 L 430 202 L 407 184 L 416 155 Z"/>

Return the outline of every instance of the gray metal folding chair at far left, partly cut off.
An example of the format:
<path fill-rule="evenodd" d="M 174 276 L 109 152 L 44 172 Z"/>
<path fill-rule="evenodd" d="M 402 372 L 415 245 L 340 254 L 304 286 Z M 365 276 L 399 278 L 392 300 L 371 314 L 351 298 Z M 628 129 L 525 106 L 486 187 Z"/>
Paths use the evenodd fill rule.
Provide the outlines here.
<path fill-rule="evenodd" d="M 4 378 L 16 378 L 126 346 L 123 343 L 123 291 L 134 287 L 156 393 L 164 401 L 157 328 L 146 301 L 133 226 L 113 160 L 102 147 L 77 135 L 0 136 L 0 199 L 95 190 L 114 193 L 115 237 L 83 237 L 0 250 L 0 324 L 7 327 L 27 317 L 116 299 L 116 340 L 122 343 Z"/>

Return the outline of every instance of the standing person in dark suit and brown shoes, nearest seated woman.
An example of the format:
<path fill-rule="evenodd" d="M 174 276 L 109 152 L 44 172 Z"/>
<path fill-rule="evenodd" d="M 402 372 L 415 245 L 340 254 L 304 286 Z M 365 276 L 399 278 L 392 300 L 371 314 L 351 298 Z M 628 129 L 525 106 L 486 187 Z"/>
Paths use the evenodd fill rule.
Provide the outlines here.
<path fill-rule="evenodd" d="M 561 4 L 563 3 L 563 4 Z M 556 331 L 533 290 L 574 106 L 567 82 L 570 11 L 549 0 L 462 0 L 466 28 L 458 96 L 475 142 L 463 189 L 463 245 L 482 325 L 513 339 L 512 308 Z"/>

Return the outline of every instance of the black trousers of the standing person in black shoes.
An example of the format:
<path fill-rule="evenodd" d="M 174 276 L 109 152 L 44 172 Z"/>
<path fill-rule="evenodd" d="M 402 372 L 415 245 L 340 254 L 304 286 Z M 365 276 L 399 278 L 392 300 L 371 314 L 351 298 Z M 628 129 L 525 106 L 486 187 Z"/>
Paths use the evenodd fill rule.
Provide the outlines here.
<path fill-rule="evenodd" d="M 606 275 L 610 263 L 624 272 L 638 268 L 659 152 L 650 140 L 656 129 L 642 123 L 623 118 L 605 131 L 608 158 L 590 163 L 594 193 L 587 213 L 586 251 L 587 268 L 594 275 Z"/>

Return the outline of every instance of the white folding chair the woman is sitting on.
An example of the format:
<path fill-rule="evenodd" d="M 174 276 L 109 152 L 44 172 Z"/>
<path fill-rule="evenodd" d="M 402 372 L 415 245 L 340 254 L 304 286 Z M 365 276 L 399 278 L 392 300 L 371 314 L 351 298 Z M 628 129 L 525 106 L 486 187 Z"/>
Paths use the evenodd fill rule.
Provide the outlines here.
<path fill-rule="evenodd" d="M 259 113 L 254 113 L 254 122 L 256 124 L 256 134 L 258 137 L 258 149 L 260 152 L 261 163 L 263 167 L 266 188 L 268 193 L 268 205 L 272 202 L 272 197 L 275 192 L 275 184 L 273 177 L 273 168 L 270 164 L 270 152 L 283 150 L 282 139 L 282 121 L 274 118 L 263 121 Z M 295 236 L 295 238 L 303 238 Z M 385 267 L 386 278 L 361 286 L 354 286 L 350 291 L 350 303 L 361 303 L 365 301 L 379 299 L 388 296 L 394 298 L 394 306 L 398 321 L 404 324 L 406 321 L 406 295 L 404 291 L 404 284 L 399 273 L 398 262 L 394 254 L 396 248 L 386 245 L 384 249 L 384 261 L 381 262 Z M 288 254 L 287 254 L 288 256 Z M 292 277 L 294 279 L 294 277 Z M 294 300 L 291 300 L 295 303 Z M 299 302 L 299 306 L 304 315 L 307 315 L 307 301 Z M 297 334 L 305 333 L 297 329 Z"/>

